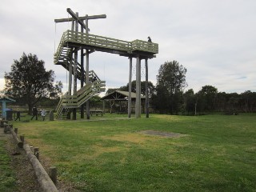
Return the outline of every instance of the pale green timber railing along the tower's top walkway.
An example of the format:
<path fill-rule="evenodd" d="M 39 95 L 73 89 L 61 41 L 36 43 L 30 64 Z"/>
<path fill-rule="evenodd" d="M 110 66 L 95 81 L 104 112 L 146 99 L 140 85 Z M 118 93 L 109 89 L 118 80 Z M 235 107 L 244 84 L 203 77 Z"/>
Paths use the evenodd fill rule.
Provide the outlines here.
<path fill-rule="evenodd" d="M 62 51 L 65 50 L 64 47 L 69 47 L 69 42 L 92 47 L 102 47 L 111 50 L 122 50 L 127 52 L 127 54 L 132 54 L 133 51 L 145 51 L 150 54 L 158 54 L 158 43 L 146 42 L 138 39 L 132 42 L 127 42 L 116 38 L 106 38 L 99 35 L 66 30 L 66 32 L 62 34 L 62 39 L 58 45 L 58 50 L 54 54 L 55 64 L 58 63 L 60 58 L 62 58 L 61 60 L 65 60 L 65 57 L 61 57 L 65 55 L 65 53 L 62 53 Z M 67 57 L 70 50 L 67 49 L 65 52 Z"/>

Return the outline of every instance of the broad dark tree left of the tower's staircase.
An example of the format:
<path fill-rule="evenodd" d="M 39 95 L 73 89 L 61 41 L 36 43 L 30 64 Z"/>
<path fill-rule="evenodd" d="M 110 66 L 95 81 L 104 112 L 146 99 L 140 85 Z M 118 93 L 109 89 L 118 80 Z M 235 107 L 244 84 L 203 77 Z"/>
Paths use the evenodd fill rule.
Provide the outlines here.
<path fill-rule="evenodd" d="M 43 97 L 62 92 L 62 82 L 54 85 L 54 71 L 46 71 L 44 64 L 35 54 L 23 53 L 19 60 L 14 60 L 11 72 L 5 73 L 6 92 L 20 104 L 27 104 L 30 114 L 32 107 Z"/>

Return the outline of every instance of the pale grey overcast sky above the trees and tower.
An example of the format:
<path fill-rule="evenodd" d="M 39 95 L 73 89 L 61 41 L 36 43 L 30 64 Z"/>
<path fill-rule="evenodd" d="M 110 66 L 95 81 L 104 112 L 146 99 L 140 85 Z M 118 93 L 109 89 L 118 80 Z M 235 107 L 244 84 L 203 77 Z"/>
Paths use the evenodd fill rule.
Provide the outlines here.
<path fill-rule="evenodd" d="M 159 67 L 176 60 L 187 69 L 186 90 L 210 85 L 226 93 L 256 91 L 255 0 L 1 0 L 0 90 L 4 72 L 23 52 L 45 61 L 66 90 L 66 70 L 53 60 L 62 32 L 71 25 L 55 27 L 54 19 L 70 17 L 68 7 L 79 16 L 106 14 L 89 21 L 91 34 L 126 41 L 150 36 L 157 42 L 159 54 L 149 60 L 154 85 Z M 129 80 L 129 60 L 118 54 L 90 54 L 90 70 L 106 80 L 107 88 Z M 144 71 L 142 62 L 142 81 Z"/>

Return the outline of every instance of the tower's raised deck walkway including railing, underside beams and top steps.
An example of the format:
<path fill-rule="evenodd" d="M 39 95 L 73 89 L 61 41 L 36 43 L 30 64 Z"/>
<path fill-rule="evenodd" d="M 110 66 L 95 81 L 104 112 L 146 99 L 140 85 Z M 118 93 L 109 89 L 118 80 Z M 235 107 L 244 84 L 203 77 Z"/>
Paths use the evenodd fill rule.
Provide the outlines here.
<path fill-rule="evenodd" d="M 54 55 L 55 64 L 58 64 L 58 62 L 62 61 L 63 57 L 67 56 L 69 47 L 82 47 L 83 49 L 120 54 L 132 58 L 136 57 L 138 54 L 142 57 L 154 58 L 154 54 L 158 54 L 158 43 L 138 39 L 128 42 L 115 38 L 106 38 L 94 34 L 66 30 L 66 32 L 62 34 L 58 50 Z"/>

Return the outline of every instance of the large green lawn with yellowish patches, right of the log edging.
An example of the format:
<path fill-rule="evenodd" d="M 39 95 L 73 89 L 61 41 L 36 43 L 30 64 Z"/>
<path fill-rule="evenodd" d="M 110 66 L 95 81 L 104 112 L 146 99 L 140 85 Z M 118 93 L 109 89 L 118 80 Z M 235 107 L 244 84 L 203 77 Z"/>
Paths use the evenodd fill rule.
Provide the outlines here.
<path fill-rule="evenodd" d="M 122 118 L 121 118 L 122 117 Z M 82 191 L 256 191 L 256 114 L 14 122 Z M 143 130 L 182 137 L 145 134 Z"/>

